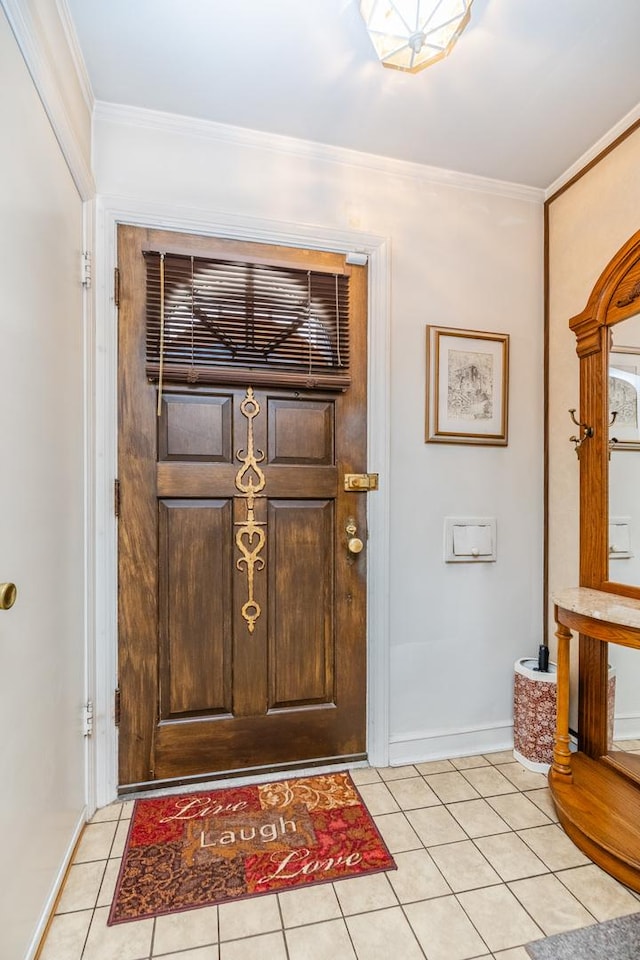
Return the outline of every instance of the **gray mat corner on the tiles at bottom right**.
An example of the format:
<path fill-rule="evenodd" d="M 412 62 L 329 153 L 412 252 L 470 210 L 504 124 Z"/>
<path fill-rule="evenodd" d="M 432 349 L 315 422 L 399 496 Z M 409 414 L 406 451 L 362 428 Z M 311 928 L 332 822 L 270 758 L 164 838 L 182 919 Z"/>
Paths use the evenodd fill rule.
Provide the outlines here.
<path fill-rule="evenodd" d="M 533 960 L 639 960 L 640 913 L 557 933 L 525 949 Z"/>

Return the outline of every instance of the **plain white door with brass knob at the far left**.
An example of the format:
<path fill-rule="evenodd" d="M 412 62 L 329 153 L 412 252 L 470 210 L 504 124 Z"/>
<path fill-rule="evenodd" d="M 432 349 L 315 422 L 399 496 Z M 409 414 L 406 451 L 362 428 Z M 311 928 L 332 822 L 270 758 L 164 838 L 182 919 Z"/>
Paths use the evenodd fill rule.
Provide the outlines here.
<path fill-rule="evenodd" d="M 82 823 L 82 203 L 0 8 L 0 956 L 32 956 Z"/>

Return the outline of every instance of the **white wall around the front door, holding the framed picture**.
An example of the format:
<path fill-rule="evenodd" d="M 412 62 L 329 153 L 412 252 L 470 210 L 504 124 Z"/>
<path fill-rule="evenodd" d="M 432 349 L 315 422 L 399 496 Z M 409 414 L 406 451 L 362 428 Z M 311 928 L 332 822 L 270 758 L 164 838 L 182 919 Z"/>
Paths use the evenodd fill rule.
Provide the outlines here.
<path fill-rule="evenodd" d="M 362 231 L 391 248 L 391 759 L 507 746 L 542 623 L 542 207 L 536 191 L 98 105 L 99 196 Z M 511 336 L 506 448 L 424 443 L 425 326 Z M 372 496 L 375 496 L 373 494 Z M 445 565 L 447 515 L 498 521 Z"/>

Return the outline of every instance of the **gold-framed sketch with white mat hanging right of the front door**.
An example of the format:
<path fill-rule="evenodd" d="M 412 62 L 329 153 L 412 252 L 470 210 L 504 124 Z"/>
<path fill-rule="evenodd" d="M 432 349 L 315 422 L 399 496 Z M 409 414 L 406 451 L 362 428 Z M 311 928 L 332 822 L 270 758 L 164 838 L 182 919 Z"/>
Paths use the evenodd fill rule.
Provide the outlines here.
<path fill-rule="evenodd" d="M 427 443 L 507 445 L 509 335 L 427 327 Z"/>

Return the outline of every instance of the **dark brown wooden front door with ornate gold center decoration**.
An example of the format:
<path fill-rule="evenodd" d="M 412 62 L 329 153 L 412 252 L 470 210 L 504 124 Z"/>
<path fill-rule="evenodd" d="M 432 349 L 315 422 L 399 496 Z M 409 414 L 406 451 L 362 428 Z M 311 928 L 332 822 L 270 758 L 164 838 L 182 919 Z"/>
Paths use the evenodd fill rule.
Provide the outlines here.
<path fill-rule="evenodd" d="M 241 366 L 159 388 L 159 250 L 349 273 L 347 389 Z M 132 227 L 118 251 L 120 787 L 362 758 L 366 496 L 344 476 L 366 470 L 366 268 Z"/>

